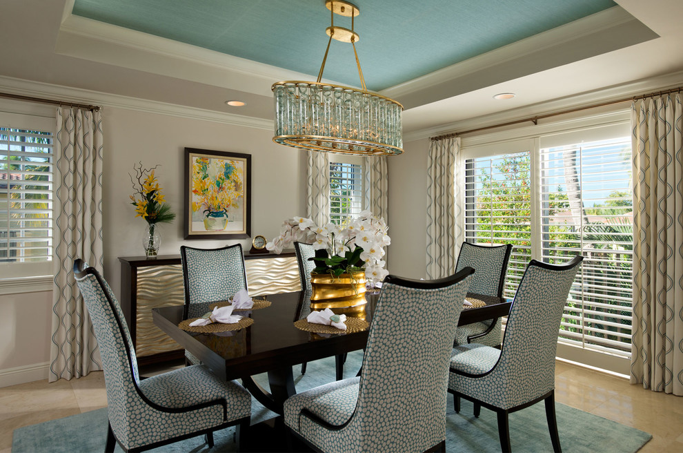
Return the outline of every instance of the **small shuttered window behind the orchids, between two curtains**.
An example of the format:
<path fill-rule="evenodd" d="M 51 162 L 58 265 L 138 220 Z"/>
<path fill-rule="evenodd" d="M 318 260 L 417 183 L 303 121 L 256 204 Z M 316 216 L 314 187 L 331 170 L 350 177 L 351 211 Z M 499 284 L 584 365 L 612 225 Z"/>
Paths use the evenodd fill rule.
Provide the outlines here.
<path fill-rule="evenodd" d="M 363 166 L 330 162 L 330 222 L 343 224 L 363 211 Z"/>

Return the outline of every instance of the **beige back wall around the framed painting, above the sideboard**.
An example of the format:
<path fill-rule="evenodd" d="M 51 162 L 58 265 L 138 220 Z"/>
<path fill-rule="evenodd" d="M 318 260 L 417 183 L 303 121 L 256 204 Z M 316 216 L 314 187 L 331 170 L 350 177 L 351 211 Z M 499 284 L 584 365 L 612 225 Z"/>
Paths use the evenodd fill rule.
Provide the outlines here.
<path fill-rule="evenodd" d="M 128 173 L 142 162 L 161 164 L 155 174 L 164 189 L 166 202 L 177 218 L 161 224 L 159 254 L 177 255 L 183 244 L 191 247 L 222 247 L 250 239 L 184 240 L 183 173 L 184 148 L 231 151 L 252 156 L 252 235 L 273 238 L 285 218 L 306 211 L 306 160 L 304 153 L 273 143 L 273 133 L 264 129 L 217 122 L 143 113 L 123 108 L 105 108 L 104 157 L 104 252 L 105 277 L 119 296 L 119 256 L 142 256 L 142 232 L 146 222 L 135 218 L 130 204 L 132 184 Z"/>

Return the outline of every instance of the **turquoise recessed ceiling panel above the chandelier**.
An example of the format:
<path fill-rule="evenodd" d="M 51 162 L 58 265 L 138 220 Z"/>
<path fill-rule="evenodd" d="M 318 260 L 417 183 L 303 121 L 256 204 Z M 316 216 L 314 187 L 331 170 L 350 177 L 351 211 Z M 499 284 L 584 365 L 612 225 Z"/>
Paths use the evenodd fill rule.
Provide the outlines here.
<path fill-rule="evenodd" d="M 356 44 L 382 90 L 615 6 L 612 0 L 358 0 Z M 73 14 L 228 55 L 318 73 L 324 0 L 75 0 Z M 335 24 L 351 28 L 350 18 Z M 324 77 L 358 86 L 350 44 L 330 46 Z"/>

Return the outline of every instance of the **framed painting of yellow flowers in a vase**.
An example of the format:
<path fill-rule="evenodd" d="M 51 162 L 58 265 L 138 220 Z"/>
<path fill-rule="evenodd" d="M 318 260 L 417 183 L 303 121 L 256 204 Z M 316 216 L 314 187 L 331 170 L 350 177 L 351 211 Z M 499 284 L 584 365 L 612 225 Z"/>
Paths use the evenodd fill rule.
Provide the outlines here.
<path fill-rule="evenodd" d="M 185 148 L 185 239 L 248 238 L 251 155 Z"/>

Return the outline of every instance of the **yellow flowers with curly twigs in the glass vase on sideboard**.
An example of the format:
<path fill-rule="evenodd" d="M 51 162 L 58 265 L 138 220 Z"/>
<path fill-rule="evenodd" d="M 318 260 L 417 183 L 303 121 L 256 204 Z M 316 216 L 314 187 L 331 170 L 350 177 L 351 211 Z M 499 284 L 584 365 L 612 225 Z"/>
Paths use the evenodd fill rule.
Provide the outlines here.
<path fill-rule="evenodd" d="M 161 194 L 161 187 L 154 174 L 157 166 L 143 168 L 142 162 L 139 162 L 137 166 L 133 166 L 135 179 L 130 175 L 130 182 L 135 191 L 135 196 L 130 195 L 131 204 L 135 206 L 135 217 L 143 218 L 150 225 L 168 223 L 175 219 L 175 213 L 171 212 L 170 206 L 164 204 L 164 195 Z"/>

